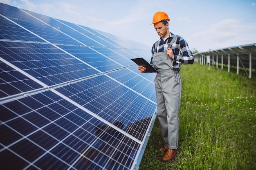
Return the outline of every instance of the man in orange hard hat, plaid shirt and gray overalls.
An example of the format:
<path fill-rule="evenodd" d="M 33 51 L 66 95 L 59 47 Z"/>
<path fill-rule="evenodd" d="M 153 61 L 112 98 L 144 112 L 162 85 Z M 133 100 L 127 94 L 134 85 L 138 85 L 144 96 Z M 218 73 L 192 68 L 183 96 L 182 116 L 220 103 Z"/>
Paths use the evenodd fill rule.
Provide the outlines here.
<path fill-rule="evenodd" d="M 157 12 L 153 22 L 160 40 L 152 47 L 150 64 L 158 71 L 155 77 L 155 91 L 157 97 L 157 117 L 159 120 L 165 145 L 162 150 L 166 154 L 162 161 L 171 161 L 178 148 L 179 118 L 181 97 L 180 65 L 193 64 L 194 59 L 187 42 L 180 36 L 169 31 L 169 17 L 164 12 Z M 170 48 L 171 47 L 171 48 Z M 139 66 L 143 73 L 146 68 Z"/>

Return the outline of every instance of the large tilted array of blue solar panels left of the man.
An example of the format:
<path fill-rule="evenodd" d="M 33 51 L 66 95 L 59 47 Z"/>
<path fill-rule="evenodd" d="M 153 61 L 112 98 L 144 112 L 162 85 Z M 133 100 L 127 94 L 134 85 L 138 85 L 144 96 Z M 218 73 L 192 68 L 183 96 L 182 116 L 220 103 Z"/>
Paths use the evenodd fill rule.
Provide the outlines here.
<path fill-rule="evenodd" d="M 1 169 L 133 170 L 155 120 L 150 47 L 0 3 Z"/>

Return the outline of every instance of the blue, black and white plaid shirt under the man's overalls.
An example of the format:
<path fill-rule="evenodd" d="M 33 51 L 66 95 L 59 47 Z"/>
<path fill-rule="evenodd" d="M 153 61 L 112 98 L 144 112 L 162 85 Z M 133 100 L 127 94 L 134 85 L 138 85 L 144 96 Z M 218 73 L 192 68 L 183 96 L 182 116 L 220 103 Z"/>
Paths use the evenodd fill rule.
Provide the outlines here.
<path fill-rule="evenodd" d="M 153 44 L 152 51 L 151 51 L 152 57 L 151 57 L 150 64 L 152 64 L 154 52 L 157 53 L 157 52 L 166 51 L 167 46 L 171 42 L 173 37 L 174 37 L 174 34 L 171 33 L 170 36 L 165 41 L 162 38 L 160 38 L 160 40 L 158 40 L 157 47 L 155 46 L 156 43 Z M 173 70 L 180 71 L 181 64 L 193 64 L 194 58 L 191 51 L 189 50 L 189 46 L 186 40 L 184 40 L 181 36 L 177 36 L 177 40 L 171 45 L 172 45 L 171 48 L 173 49 L 173 54 L 174 54 Z"/>

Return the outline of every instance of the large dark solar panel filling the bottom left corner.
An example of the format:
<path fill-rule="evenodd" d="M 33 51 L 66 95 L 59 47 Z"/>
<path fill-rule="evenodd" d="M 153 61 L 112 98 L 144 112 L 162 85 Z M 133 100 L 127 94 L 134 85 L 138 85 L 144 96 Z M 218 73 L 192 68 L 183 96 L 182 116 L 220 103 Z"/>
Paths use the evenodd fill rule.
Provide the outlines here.
<path fill-rule="evenodd" d="M 19 112 L 16 108 L 27 109 Z M 4 169 L 130 169 L 140 146 L 50 91 L 3 104 L 0 109 L 9 115 L 1 117 L 0 125 L 1 146 L 8 147 L 0 152 Z M 135 123 L 130 126 L 134 128 Z"/>

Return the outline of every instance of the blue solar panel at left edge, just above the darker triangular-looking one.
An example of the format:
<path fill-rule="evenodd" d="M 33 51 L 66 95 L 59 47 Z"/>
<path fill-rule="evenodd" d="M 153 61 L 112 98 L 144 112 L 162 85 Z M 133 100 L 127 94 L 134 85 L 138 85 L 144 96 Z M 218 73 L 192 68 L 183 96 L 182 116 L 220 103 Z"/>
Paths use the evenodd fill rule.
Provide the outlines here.
<path fill-rule="evenodd" d="M 0 45 L 4 60 L 48 86 L 99 73 L 51 44 L 0 42 Z"/>

